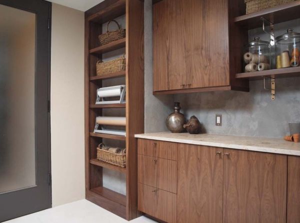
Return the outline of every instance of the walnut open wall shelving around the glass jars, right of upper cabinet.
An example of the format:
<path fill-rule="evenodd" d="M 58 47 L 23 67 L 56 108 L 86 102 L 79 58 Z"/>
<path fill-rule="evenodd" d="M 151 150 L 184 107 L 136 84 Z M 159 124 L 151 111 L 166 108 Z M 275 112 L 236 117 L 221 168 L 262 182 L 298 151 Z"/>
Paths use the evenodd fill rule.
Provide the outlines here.
<path fill-rule="evenodd" d="M 234 47 L 232 47 L 232 55 L 235 58 L 240 58 L 239 62 L 236 63 L 235 74 L 236 79 L 263 79 L 264 77 L 280 78 L 289 76 L 299 76 L 300 67 L 288 67 L 280 69 L 270 69 L 255 72 L 238 72 L 242 71 L 242 48 L 247 43 L 247 32 L 249 29 L 262 27 L 261 18 L 265 18 L 273 24 L 288 21 L 292 19 L 300 18 L 300 0 L 292 1 L 289 3 L 281 4 L 275 7 L 266 8 L 257 12 L 244 14 L 245 4 L 243 0 L 231 0 L 230 3 L 237 6 L 232 7 L 231 14 L 234 14 L 233 24 L 234 31 L 231 33 L 232 38 L 242 39 L 236 41 Z M 239 6 L 238 6 L 239 5 Z M 289 27 L 286 27 L 289 28 Z"/>

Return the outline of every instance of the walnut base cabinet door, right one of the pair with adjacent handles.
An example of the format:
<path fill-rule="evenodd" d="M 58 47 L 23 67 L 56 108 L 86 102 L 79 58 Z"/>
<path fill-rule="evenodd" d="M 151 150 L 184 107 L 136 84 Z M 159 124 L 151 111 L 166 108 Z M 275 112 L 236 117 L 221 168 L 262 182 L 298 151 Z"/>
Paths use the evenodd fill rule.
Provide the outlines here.
<path fill-rule="evenodd" d="M 224 223 L 286 222 L 287 156 L 224 149 Z"/>

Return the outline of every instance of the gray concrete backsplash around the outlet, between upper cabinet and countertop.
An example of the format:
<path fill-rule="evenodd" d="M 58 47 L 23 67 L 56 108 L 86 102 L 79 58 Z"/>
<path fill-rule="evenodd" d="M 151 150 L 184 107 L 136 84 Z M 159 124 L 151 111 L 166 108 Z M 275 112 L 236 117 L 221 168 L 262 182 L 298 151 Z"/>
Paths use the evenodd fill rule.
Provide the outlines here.
<path fill-rule="evenodd" d="M 278 78 L 275 86 L 275 100 L 262 80 L 250 81 L 250 92 L 178 94 L 174 100 L 207 133 L 281 138 L 289 133 L 288 121 L 300 121 L 300 77 Z M 215 125 L 215 114 L 222 114 L 222 126 Z"/>

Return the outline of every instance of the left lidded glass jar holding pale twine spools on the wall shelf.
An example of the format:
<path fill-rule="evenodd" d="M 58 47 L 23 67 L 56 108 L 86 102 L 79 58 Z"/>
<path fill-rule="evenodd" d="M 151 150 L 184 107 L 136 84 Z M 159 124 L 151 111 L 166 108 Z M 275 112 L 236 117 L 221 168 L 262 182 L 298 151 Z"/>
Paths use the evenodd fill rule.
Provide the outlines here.
<path fill-rule="evenodd" d="M 244 71 L 254 72 L 271 68 L 270 42 L 255 37 L 244 48 Z"/>

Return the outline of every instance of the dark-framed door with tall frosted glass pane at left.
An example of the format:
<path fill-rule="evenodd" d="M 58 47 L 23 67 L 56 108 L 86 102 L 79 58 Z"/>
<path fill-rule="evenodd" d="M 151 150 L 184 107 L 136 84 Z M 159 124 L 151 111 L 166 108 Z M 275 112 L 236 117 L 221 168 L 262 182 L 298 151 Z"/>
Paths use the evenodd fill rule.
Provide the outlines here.
<path fill-rule="evenodd" d="M 0 221 L 50 207 L 51 4 L 0 0 Z"/>

